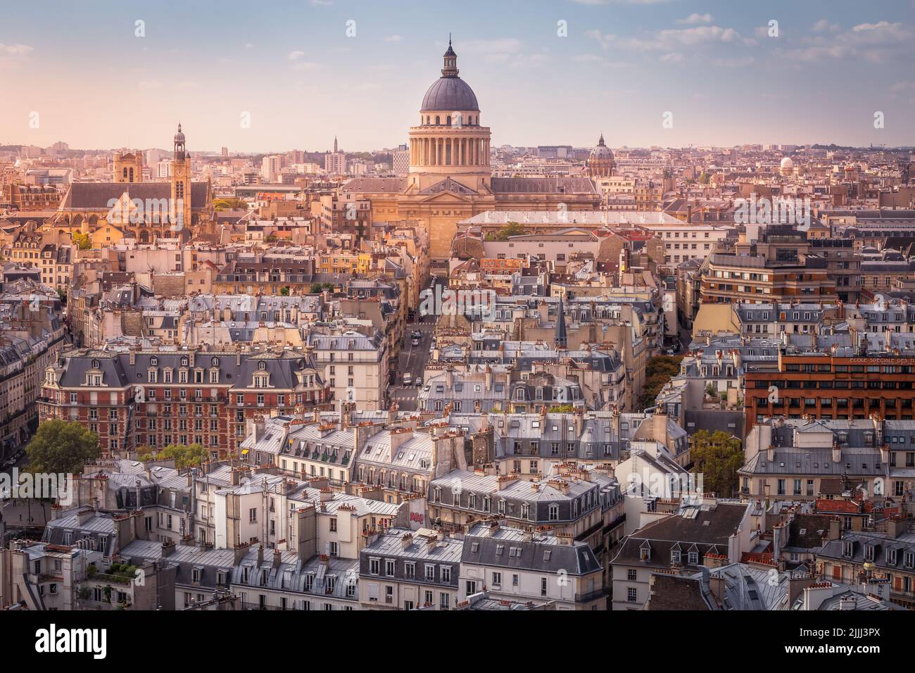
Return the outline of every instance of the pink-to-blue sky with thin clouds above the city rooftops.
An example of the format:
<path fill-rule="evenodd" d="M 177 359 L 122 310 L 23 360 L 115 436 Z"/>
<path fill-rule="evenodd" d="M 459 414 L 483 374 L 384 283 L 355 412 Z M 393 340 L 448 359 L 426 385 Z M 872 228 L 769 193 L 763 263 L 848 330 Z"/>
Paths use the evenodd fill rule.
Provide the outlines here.
<path fill-rule="evenodd" d="M 23 8 L 0 29 L 0 143 L 163 147 L 180 119 L 191 151 L 396 147 L 450 31 L 493 147 L 913 144 L 910 2 L 273 6 L 282 22 L 239 20 L 237 3 L 61 5 L 53 23 Z"/>

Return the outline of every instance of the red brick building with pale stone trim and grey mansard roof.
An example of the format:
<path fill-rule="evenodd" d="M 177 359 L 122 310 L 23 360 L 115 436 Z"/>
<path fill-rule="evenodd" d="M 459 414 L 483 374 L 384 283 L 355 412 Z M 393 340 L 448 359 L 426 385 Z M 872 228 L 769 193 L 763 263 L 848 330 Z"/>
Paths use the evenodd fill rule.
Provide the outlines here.
<path fill-rule="evenodd" d="M 46 370 L 38 418 L 78 420 L 102 450 L 199 443 L 224 457 L 244 440 L 246 420 L 330 402 L 303 351 L 82 350 Z"/>

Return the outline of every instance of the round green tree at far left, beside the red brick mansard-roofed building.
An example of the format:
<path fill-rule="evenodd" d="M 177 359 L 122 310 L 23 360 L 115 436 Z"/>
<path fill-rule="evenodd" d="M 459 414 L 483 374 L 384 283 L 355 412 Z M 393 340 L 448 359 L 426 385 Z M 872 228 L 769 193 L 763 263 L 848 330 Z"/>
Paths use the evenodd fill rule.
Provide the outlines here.
<path fill-rule="evenodd" d="M 98 436 L 79 422 L 46 420 L 26 446 L 28 471 L 78 474 L 101 452 Z"/>

